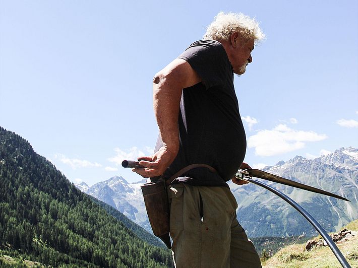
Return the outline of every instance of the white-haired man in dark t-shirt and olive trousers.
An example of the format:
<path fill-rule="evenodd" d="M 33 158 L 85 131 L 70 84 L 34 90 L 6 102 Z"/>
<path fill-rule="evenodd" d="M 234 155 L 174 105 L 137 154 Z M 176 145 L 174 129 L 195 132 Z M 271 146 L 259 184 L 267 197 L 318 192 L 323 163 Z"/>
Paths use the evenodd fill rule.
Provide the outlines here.
<path fill-rule="evenodd" d="M 226 181 L 245 163 L 245 130 L 233 74 L 252 62 L 264 37 L 255 19 L 219 13 L 204 40 L 189 46 L 153 79 L 159 127 L 156 152 L 133 169 L 143 177 L 170 178 L 170 236 L 177 267 L 261 267 L 260 258 L 236 220 L 236 200 Z M 183 172 L 180 172 L 183 173 Z"/>

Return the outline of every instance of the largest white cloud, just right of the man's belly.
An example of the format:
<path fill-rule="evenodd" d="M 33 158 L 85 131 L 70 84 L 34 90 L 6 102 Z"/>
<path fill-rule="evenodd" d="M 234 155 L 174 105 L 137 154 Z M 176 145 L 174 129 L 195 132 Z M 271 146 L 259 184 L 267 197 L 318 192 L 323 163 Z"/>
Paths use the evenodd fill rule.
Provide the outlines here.
<path fill-rule="evenodd" d="M 285 124 L 279 124 L 272 130 L 260 130 L 249 137 L 248 147 L 255 148 L 257 156 L 273 156 L 302 149 L 306 142 L 317 142 L 326 138 L 326 135 L 314 131 L 294 130 Z"/>

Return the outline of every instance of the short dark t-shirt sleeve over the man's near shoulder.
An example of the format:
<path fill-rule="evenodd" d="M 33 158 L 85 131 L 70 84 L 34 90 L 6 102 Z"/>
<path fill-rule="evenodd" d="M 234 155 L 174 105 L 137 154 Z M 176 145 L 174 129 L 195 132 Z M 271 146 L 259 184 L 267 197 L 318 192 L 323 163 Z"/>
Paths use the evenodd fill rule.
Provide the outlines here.
<path fill-rule="evenodd" d="M 205 40 L 193 43 L 178 58 L 189 62 L 202 79 L 206 89 L 224 85 L 227 69 L 231 68 L 225 49 L 217 41 Z"/>

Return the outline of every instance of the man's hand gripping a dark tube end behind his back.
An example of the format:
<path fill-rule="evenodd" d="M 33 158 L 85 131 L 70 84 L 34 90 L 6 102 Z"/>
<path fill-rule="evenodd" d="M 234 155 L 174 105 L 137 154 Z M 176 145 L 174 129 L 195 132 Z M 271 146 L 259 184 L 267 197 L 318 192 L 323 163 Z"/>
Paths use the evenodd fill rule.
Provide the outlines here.
<path fill-rule="evenodd" d="M 174 161 L 176 154 L 162 146 L 155 154 L 138 158 L 139 164 L 145 168 L 133 168 L 132 171 L 144 178 L 160 176 Z"/>

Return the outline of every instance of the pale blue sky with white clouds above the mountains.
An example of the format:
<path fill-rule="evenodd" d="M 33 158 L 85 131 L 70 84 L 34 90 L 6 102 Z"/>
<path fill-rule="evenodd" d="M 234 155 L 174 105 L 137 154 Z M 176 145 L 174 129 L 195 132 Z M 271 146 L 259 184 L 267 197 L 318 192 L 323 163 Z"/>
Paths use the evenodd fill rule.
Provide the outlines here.
<path fill-rule="evenodd" d="M 267 35 L 234 81 L 246 162 L 358 147 L 355 0 L 0 0 L 0 126 L 73 182 L 139 181 L 120 163 L 154 148 L 152 78 L 220 11 Z"/>

